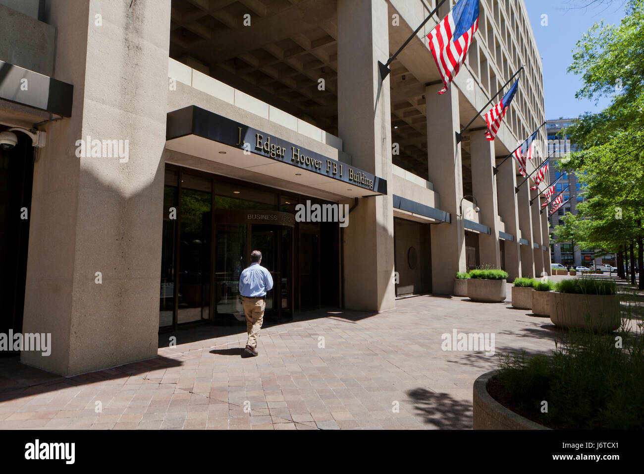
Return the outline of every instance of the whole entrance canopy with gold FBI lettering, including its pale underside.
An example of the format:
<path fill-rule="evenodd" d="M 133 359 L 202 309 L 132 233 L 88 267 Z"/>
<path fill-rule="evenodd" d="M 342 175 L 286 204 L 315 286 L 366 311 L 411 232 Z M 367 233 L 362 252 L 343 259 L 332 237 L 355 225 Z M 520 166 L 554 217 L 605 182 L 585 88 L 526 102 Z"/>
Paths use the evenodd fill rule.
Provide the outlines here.
<path fill-rule="evenodd" d="M 342 198 L 384 195 L 386 180 L 197 106 L 167 114 L 166 148 L 238 170 L 258 184 L 287 180 Z"/>

